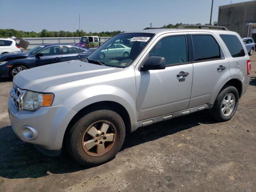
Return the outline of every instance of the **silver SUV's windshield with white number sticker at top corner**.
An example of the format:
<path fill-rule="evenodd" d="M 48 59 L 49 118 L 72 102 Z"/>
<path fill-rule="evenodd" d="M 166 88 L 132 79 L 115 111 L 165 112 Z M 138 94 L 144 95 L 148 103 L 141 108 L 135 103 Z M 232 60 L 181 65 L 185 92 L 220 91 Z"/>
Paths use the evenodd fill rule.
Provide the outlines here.
<path fill-rule="evenodd" d="M 145 48 L 154 34 L 118 34 L 97 48 L 84 62 L 99 61 L 106 66 L 128 67 Z"/>

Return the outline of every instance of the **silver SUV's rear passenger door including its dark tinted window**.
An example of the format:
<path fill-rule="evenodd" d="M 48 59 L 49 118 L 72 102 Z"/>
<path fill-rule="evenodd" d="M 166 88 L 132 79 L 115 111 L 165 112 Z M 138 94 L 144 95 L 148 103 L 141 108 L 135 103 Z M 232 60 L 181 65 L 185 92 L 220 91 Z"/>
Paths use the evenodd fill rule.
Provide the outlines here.
<path fill-rule="evenodd" d="M 214 102 L 216 92 L 230 78 L 229 62 L 210 32 L 190 32 L 193 47 L 193 85 L 189 108 Z"/>

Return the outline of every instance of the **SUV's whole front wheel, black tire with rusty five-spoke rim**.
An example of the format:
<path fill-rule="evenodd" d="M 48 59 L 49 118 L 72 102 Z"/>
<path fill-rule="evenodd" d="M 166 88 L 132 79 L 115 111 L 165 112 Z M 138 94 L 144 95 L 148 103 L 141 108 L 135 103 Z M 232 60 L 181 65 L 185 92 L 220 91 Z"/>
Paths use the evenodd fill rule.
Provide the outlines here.
<path fill-rule="evenodd" d="M 79 164 L 95 166 L 114 158 L 125 138 L 121 116 L 112 110 L 86 114 L 70 129 L 66 147 Z"/>

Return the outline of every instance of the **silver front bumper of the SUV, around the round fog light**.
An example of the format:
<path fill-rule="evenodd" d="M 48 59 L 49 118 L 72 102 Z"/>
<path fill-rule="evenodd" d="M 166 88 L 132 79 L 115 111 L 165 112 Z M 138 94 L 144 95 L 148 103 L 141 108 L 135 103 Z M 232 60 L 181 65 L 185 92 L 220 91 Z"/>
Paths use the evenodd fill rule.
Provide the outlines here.
<path fill-rule="evenodd" d="M 14 100 L 8 100 L 8 112 L 15 134 L 24 142 L 39 145 L 48 150 L 60 150 L 66 128 L 77 113 L 65 106 L 41 107 L 36 111 L 17 111 Z M 32 127 L 38 133 L 36 138 L 28 139 L 22 132 L 24 127 Z"/>

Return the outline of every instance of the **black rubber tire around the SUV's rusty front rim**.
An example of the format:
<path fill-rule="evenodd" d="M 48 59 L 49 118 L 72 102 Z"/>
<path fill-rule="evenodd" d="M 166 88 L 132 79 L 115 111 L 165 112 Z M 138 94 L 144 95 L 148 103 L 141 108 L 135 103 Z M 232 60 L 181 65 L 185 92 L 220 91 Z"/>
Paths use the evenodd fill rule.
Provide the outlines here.
<path fill-rule="evenodd" d="M 111 122 L 116 128 L 115 141 L 108 152 L 101 156 L 91 156 L 86 153 L 82 143 L 84 143 L 84 134 L 92 124 L 106 120 Z M 84 166 L 96 166 L 108 162 L 116 156 L 124 143 L 125 124 L 121 116 L 108 109 L 96 110 L 90 112 L 74 123 L 69 130 L 66 138 L 66 148 L 72 158 Z M 97 146 L 96 146 L 97 147 Z"/>

